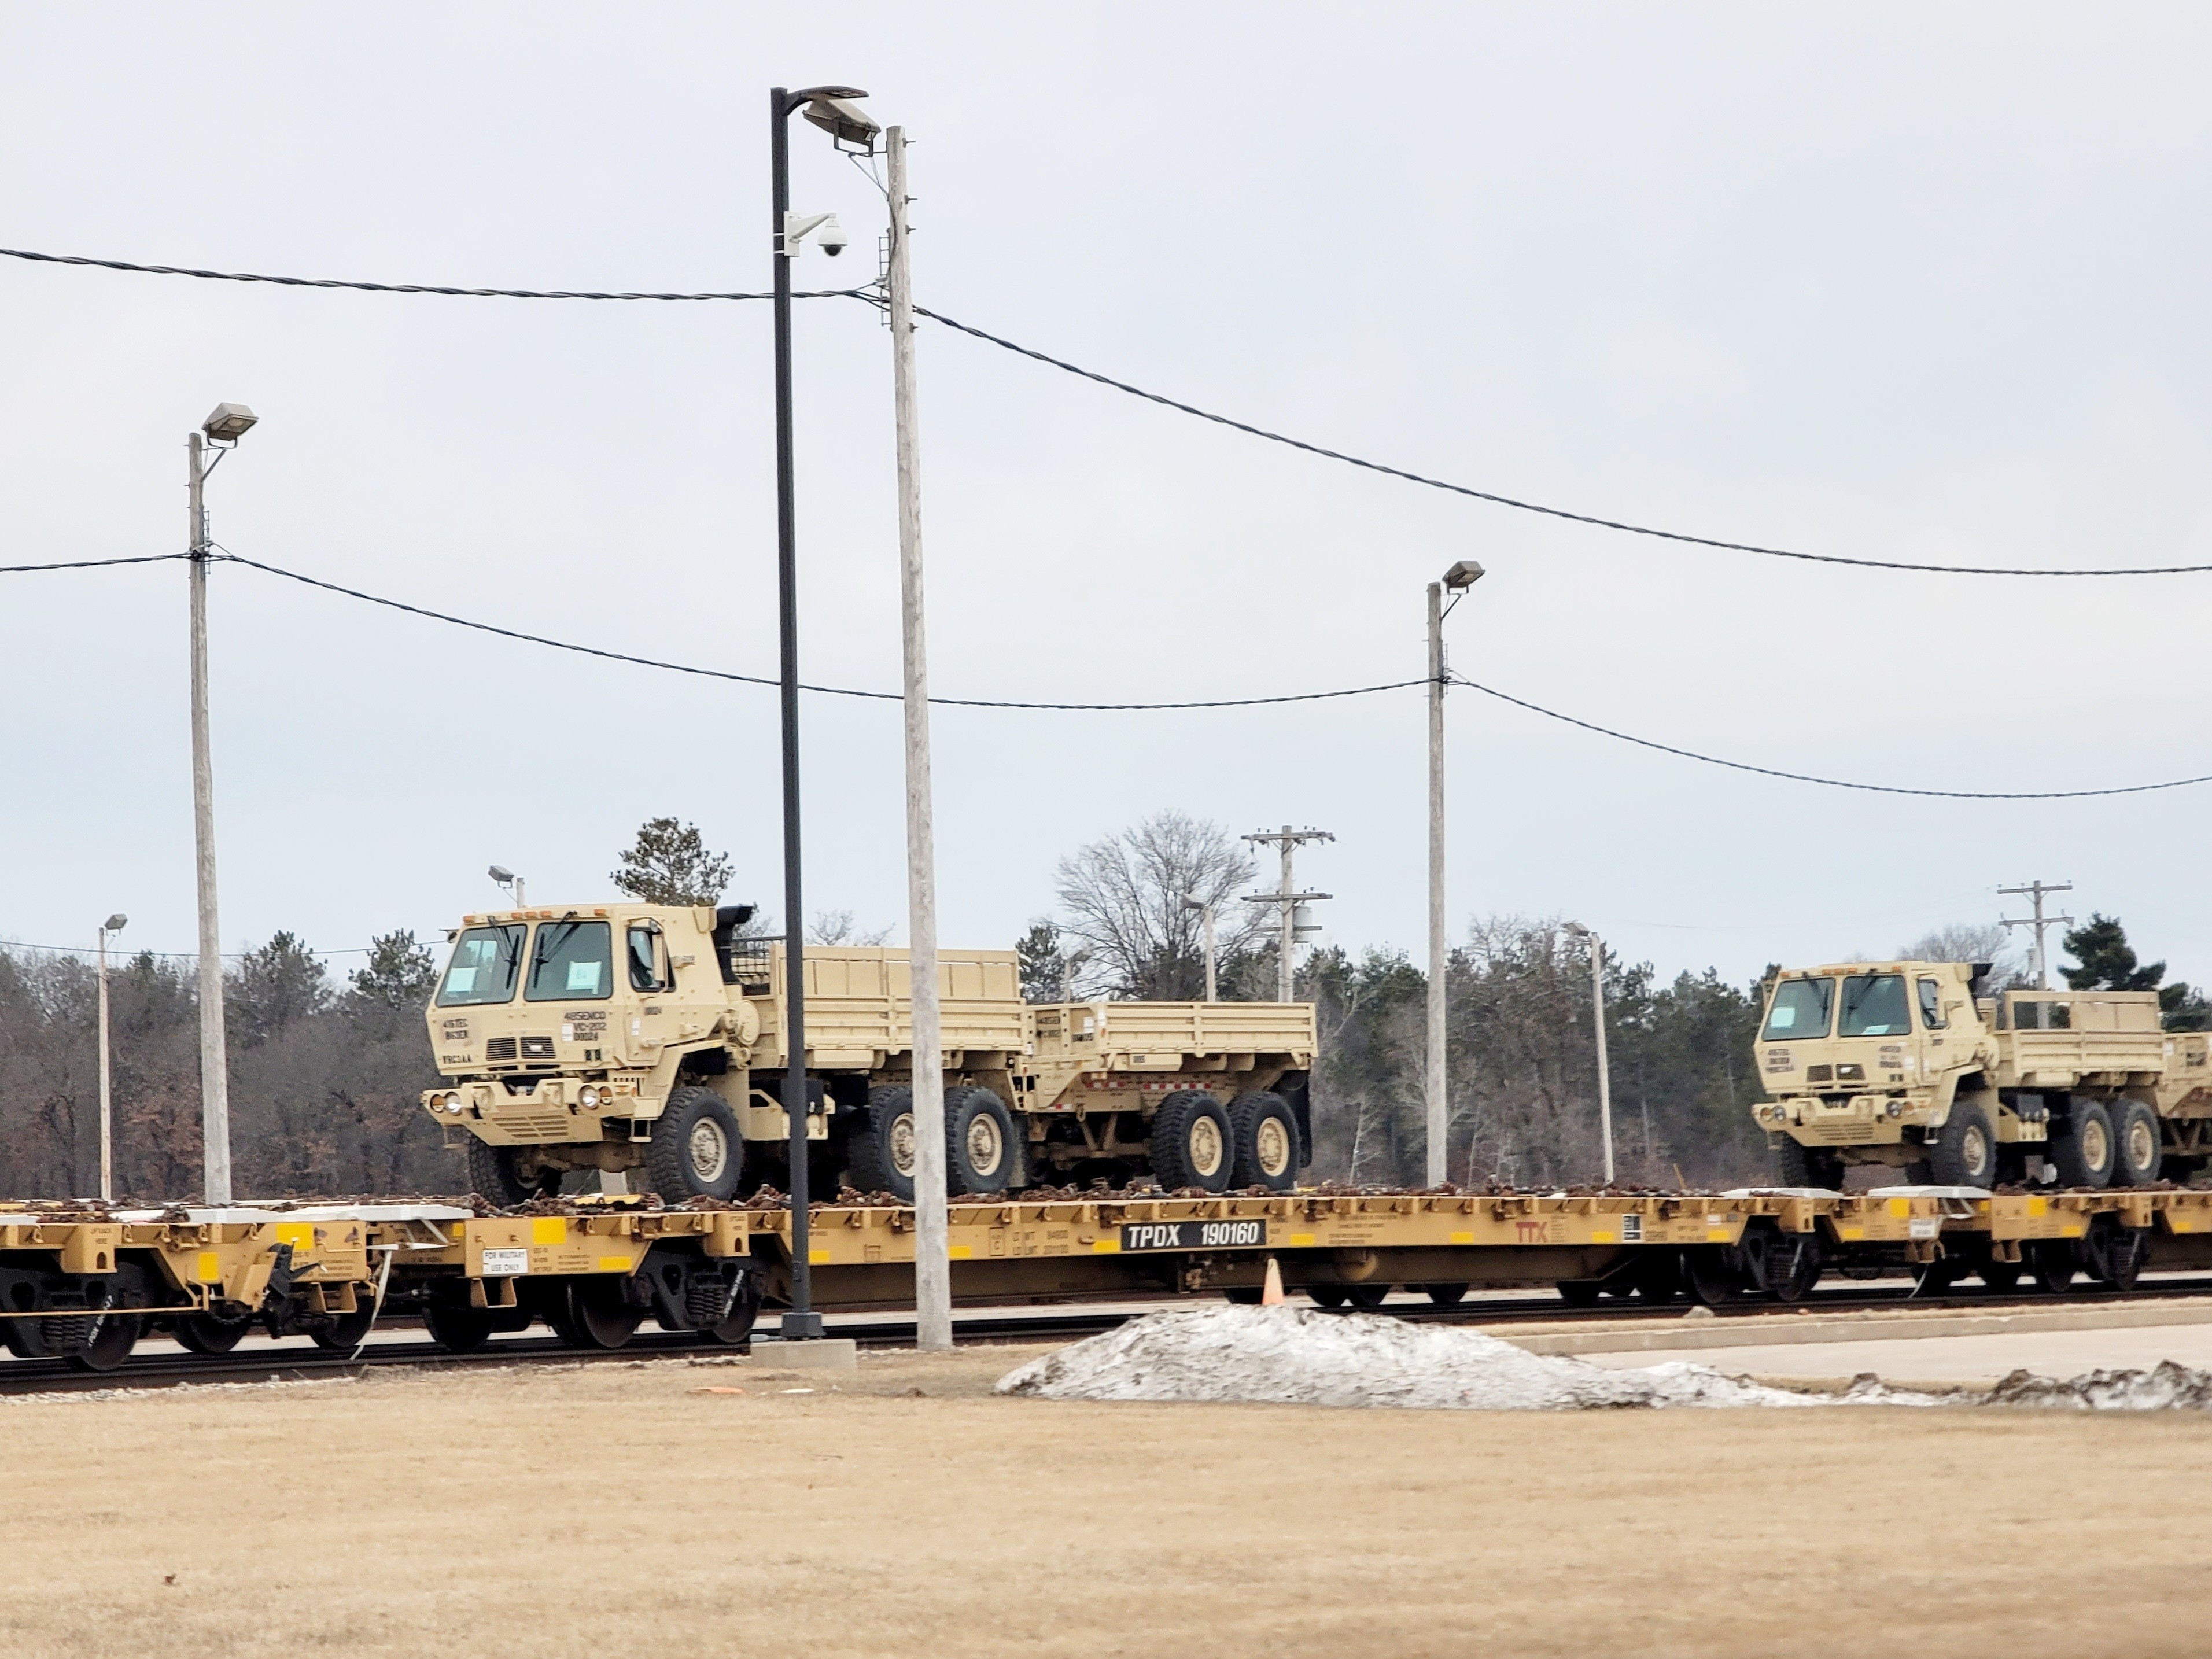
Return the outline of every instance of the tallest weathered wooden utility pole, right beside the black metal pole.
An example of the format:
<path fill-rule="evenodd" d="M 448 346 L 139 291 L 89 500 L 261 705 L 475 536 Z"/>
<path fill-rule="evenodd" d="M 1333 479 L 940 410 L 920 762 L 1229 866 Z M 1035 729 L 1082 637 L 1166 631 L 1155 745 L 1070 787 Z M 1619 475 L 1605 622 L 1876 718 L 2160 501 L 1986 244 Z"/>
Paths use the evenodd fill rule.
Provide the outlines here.
<path fill-rule="evenodd" d="M 907 962 L 914 973 L 914 1345 L 953 1345 L 945 1217 L 945 1044 L 938 1015 L 938 876 L 929 796 L 929 664 L 922 630 L 922 451 L 914 400 L 914 265 L 907 131 L 885 133 L 891 195 L 891 403 L 898 416 L 898 597 L 907 661 Z"/>

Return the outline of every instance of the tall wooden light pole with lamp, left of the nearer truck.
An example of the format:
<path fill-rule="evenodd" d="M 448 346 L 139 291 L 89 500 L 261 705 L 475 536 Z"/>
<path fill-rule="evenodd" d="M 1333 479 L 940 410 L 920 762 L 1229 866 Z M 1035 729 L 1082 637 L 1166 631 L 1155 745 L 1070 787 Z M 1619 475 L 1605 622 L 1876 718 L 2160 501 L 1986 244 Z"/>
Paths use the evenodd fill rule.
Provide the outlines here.
<path fill-rule="evenodd" d="M 192 593 L 192 845 L 199 880 L 199 1137 L 208 1203 L 230 1203 L 230 1053 L 223 1042 L 223 929 L 215 911 L 215 759 L 208 752 L 208 473 L 252 431 L 243 403 L 217 403 L 186 438 L 186 566 Z M 215 460 L 208 460 L 208 449 Z"/>

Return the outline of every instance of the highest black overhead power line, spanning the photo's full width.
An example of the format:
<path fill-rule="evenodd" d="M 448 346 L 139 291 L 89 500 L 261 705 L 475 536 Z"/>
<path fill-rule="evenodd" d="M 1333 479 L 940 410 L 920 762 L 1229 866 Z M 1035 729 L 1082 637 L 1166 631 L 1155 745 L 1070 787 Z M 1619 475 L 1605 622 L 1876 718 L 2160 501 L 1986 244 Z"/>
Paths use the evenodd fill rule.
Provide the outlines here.
<path fill-rule="evenodd" d="M 613 294 L 613 292 L 591 292 L 571 288 L 447 288 L 440 283 L 367 283 L 347 281 L 338 276 L 270 276 L 248 270 L 195 270 L 190 265 L 142 265 L 128 259 L 88 259 L 84 254 L 42 254 L 29 248 L 0 248 L 0 257 L 7 259 L 29 259 L 46 265 L 91 265 L 97 270 L 124 270 L 139 272 L 148 276 L 199 276 L 204 281 L 219 283 L 274 283 L 281 288 L 345 288 L 367 294 L 445 294 L 456 299 L 599 299 L 599 301 L 730 301 L 730 299 L 770 299 L 770 294 L 752 292 L 664 292 L 664 294 Z M 880 305 L 883 296 L 872 288 L 821 288 L 794 294 L 794 299 L 860 299 L 872 305 Z M 1097 369 L 1086 369 L 1066 358 L 1051 356 L 1048 352 L 1037 352 L 1035 347 L 1020 345 L 1004 338 L 1002 334 L 991 334 L 989 330 L 975 327 L 973 323 L 962 323 L 945 312 L 933 312 L 927 305 L 916 305 L 916 314 L 927 316 L 933 323 L 958 330 L 960 334 L 971 334 L 978 341 L 989 341 L 1006 352 L 1026 356 L 1035 363 L 1044 363 L 1066 374 L 1075 374 L 1084 380 L 1095 380 L 1097 385 L 1113 387 L 1115 392 L 1126 392 L 1133 398 L 1144 398 L 1146 403 L 1157 403 L 1164 409 L 1175 409 L 1179 414 L 1194 416 L 1199 420 L 1212 420 L 1219 427 L 1230 427 L 1252 438 L 1263 438 L 1267 442 L 1285 445 L 1287 449 L 1298 449 L 1307 456 L 1321 456 L 1323 460 L 1340 460 L 1347 467 L 1360 467 L 1363 471 L 1380 473 L 1385 478 L 1400 478 L 1409 484 L 1422 484 L 1425 489 L 1442 489 L 1451 495 L 1467 495 L 1469 500 L 1491 502 L 1493 507 L 1511 507 L 1517 513 L 1540 513 L 1544 518 L 1566 520 L 1571 524 L 1590 524 L 1595 529 L 1621 531 L 1624 535 L 1648 535 L 1659 542 L 1677 542 L 1683 546 L 1710 546 L 1725 553 L 1756 553 L 1770 560 L 1801 560 L 1807 564 L 1845 564 L 1860 571 L 1918 571 L 1929 575 L 2055 575 L 2055 577 L 2088 577 L 2088 575 L 2203 575 L 2212 571 L 2212 564 L 2137 564 L 2117 568 L 2031 568 L 2031 566 L 1997 566 L 1997 564 L 1916 564 L 1909 560 L 1863 560 L 1845 553 L 1805 553 L 1803 549 L 1787 546 L 1765 546 L 1761 542 L 1730 542 L 1717 535 L 1692 535 L 1688 531 L 1663 531 L 1652 524 L 1635 524 L 1619 518 L 1601 518 L 1597 513 L 1577 513 L 1566 507 L 1546 507 L 1544 502 L 1522 500 L 1520 495 L 1502 495 L 1491 489 L 1475 489 L 1473 484 L 1453 484 L 1444 478 L 1429 478 L 1427 473 L 1416 473 L 1405 467 L 1389 467 L 1380 460 L 1365 460 L 1363 456 L 1349 456 L 1343 449 L 1327 449 L 1325 445 L 1307 442 L 1303 438 L 1292 438 L 1281 431 L 1270 431 L 1267 427 L 1254 427 L 1248 420 L 1237 420 L 1232 416 L 1214 414 L 1212 409 L 1201 409 L 1194 403 L 1181 403 L 1161 392 L 1146 392 L 1128 380 L 1117 380 L 1110 374 L 1099 374 Z"/>

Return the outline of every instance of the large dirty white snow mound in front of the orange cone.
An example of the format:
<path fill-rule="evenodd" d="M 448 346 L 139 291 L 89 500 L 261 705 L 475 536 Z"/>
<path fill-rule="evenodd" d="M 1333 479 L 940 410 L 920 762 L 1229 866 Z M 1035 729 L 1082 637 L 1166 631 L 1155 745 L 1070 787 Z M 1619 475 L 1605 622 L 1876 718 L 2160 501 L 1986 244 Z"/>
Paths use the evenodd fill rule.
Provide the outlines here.
<path fill-rule="evenodd" d="M 1462 1411 L 1608 1407 L 1938 1405 L 1860 1378 L 1847 1394 L 1792 1394 L 1705 1365 L 1610 1371 L 1526 1354 L 1453 1325 L 1316 1307 L 1179 1307 L 1009 1371 L 998 1394 L 1046 1400 L 1241 1400 Z"/>

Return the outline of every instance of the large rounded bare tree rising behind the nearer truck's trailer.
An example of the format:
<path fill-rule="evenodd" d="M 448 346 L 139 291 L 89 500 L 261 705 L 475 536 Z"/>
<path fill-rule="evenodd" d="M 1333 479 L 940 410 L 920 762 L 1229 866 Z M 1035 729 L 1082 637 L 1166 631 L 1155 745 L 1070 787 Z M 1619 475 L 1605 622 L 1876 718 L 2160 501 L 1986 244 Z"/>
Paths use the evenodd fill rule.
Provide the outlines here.
<path fill-rule="evenodd" d="M 1152 1002 L 1206 995 L 1206 929 L 1183 900 L 1214 907 L 1214 953 L 1228 967 L 1254 949 L 1272 916 L 1237 902 L 1250 880 L 1237 836 L 1172 807 L 1062 858 L 1060 931 L 1088 947 L 1077 987 Z"/>

